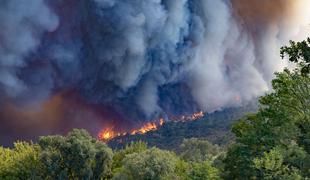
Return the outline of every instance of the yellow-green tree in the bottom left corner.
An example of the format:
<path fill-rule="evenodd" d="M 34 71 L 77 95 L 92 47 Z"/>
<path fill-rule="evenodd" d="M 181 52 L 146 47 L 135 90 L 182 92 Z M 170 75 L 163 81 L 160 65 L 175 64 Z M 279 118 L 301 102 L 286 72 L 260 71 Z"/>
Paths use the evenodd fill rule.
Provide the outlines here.
<path fill-rule="evenodd" d="M 0 147 L 0 179 L 41 179 L 38 145 L 17 142 L 14 149 Z"/>

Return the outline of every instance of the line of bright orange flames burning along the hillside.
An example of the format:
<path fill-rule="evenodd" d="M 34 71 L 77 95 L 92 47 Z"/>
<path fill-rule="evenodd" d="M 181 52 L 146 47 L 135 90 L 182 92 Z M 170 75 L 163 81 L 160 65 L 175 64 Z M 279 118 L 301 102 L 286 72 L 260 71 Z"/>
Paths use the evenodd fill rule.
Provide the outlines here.
<path fill-rule="evenodd" d="M 181 116 L 181 117 L 174 117 L 171 119 L 173 122 L 187 122 L 187 121 L 195 121 L 197 119 L 200 119 L 204 116 L 204 113 L 202 111 L 199 111 L 197 113 L 194 113 L 192 115 L 187 116 Z M 164 125 L 165 120 L 163 118 L 160 118 L 158 122 L 148 122 L 144 124 L 142 127 L 138 129 L 133 129 L 128 132 L 116 132 L 113 130 L 113 128 L 106 128 L 99 132 L 98 138 L 104 142 L 108 142 L 111 139 L 114 139 L 116 137 L 120 136 L 126 136 L 128 134 L 135 135 L 135 134 L 145 134 L 149 131 L 155 131 L 162 125 Z"/>

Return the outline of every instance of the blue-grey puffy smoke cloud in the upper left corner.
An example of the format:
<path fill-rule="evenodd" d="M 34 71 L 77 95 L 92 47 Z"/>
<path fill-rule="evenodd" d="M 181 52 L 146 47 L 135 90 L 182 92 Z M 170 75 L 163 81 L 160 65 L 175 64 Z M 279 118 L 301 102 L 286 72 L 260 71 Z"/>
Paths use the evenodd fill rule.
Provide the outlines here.
<path fill-rule="evenodd" d="M 41 34 L 56 29 L 58 18 L 43 0 L 4 0 L 0 22 L 0 91 L 17 97 L 27 91 L 27 82 L 18 73 L 27 66 L 27 56 L 37 50 Z"/>

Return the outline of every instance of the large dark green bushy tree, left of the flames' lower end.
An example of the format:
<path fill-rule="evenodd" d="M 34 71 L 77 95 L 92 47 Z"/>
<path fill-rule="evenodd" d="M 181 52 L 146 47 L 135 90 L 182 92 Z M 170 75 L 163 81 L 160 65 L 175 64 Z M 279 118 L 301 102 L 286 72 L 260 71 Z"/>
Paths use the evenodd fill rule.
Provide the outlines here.
<path fill-rule="evenodd" d="M 49 179 L 104 179 L 111 173 L 112 150 L 85 130 L 41 137 L 39 145 Z"/>

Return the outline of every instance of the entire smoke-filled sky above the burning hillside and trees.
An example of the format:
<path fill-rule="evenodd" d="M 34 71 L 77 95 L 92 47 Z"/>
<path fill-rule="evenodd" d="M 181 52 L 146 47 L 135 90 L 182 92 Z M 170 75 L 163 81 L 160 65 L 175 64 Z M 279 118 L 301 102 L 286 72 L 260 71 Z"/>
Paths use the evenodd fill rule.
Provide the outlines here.
<path fill-rule="evenodd" d="M 0 143 L 238 106 L 309 36 L 310 0 L 2 0 Z"/>

